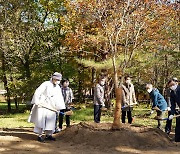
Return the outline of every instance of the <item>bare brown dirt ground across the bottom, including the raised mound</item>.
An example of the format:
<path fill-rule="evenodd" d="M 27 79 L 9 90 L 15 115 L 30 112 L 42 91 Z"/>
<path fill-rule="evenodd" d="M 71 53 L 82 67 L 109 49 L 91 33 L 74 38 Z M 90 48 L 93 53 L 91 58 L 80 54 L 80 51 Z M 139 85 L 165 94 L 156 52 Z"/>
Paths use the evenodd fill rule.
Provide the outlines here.
<path fill-rule="evenodd" d="M 161 130 L 122 125 L 111 130 L 110 123 L 79 123 L 55 134 L 56 141 L 40 143 L 33 128 L 0 129 L 1 154 L 179 154 L 175 143 Z"/>

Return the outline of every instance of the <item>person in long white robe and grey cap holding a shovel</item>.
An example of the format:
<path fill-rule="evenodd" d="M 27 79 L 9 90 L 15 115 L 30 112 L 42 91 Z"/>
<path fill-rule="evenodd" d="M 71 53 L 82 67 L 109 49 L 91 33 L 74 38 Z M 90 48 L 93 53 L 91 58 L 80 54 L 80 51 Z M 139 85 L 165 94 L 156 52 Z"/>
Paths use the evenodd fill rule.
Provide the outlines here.
<path fill-rule="evenodd" d="M 59 83 L 62 75 L 55 72 L 49 81 L 43 82 L 35 91 L 31 104 L 34 104 L 28 122 L 35 124 L 34 132 L 39 134 L 38 141 L 53 140 L 55 131 L 56 113 L 65 109 Z M 43 132 L 46 134 L 43 137 Z"/>

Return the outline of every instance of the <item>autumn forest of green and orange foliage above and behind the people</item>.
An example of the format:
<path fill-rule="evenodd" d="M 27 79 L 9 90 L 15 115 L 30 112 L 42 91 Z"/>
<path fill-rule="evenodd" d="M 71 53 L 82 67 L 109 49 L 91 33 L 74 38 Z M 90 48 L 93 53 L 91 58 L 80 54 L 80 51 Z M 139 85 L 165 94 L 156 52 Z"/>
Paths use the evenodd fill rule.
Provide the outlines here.
<path fill-rule="evenodd" d="M 107 76 L 106 106 L 125 75 L 139 102 L 145 84 L 165 96 L 167 81 L 180 79 L 179 1 L 0 0 L 0 89 L 8 112 L 31 100 L 52 73 L 70 80 L 75 102 L 93 98 Z"/>

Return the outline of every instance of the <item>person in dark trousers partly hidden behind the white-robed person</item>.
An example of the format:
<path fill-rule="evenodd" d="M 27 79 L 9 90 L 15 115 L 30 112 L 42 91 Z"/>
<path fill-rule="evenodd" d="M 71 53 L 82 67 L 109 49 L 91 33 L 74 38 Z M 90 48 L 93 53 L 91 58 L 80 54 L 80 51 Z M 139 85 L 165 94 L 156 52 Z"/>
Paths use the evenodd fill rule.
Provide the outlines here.
<path fill-rule="evenodd" d="M 62 95 L 64 98 L 64 103 L 66 106 L 66 109 L 60 110 L 59 114 L 59 129 L 62 129 L 63 126 L 63 118 L 64 118 L 64 112 L 71 110 L 72 100 L 74 99 L 72 89 L 69 87 L 69 80 L 64 79 L 62 80 Z M 65 115 L 66 117 L 66 127 L 70 126 L 70 115 Z"/>

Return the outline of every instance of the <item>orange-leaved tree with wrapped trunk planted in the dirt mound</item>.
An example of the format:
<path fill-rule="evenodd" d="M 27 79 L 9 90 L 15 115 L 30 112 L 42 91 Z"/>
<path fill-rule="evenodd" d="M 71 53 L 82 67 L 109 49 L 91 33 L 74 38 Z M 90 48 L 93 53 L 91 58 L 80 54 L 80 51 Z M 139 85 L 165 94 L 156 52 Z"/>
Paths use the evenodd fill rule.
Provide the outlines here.
<path fill-rule="evenodd" d="M 63 28 L 68 49 L 81 55 L 79 63 L 114 72 L 116 108 L 113 128 L 118 129 L 121 109 L 118 75 L 123 76 L 132 66 L 134 55 L 141 55 L 142 50 L 147 54 L 157 44 L 167 43 L 169 35 L 162 35 L 163 26 L 169 24 L 164 15 L 173 10 L 156 1 L 77 0 L 66 4 Z"/>

